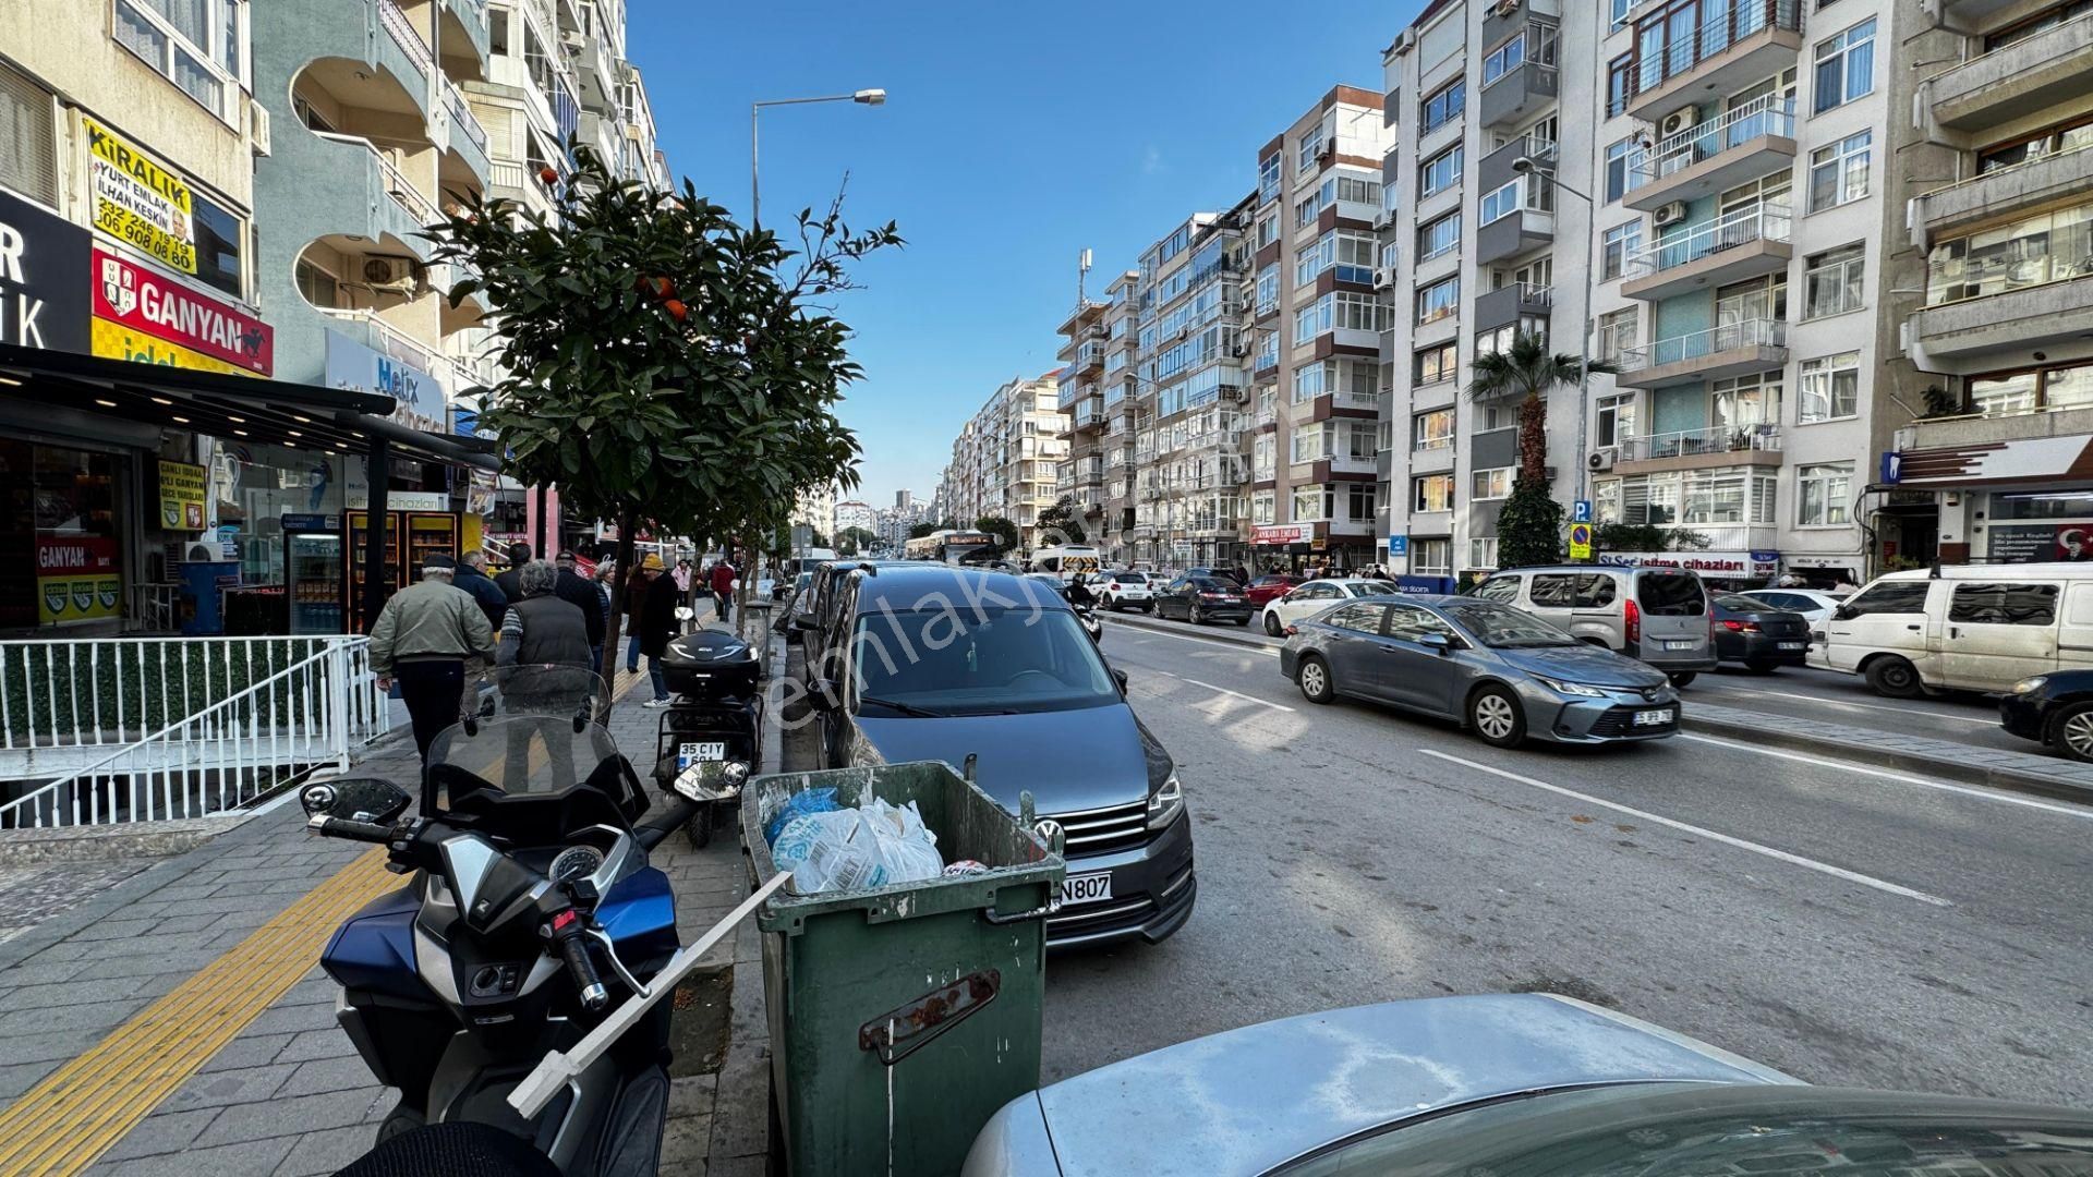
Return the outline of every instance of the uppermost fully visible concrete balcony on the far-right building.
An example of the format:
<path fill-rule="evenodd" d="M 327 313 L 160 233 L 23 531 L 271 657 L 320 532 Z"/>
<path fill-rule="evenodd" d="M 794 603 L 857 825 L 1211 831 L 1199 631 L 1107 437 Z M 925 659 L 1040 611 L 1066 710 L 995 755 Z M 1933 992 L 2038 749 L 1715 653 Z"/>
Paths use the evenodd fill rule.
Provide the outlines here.
<path fill-rule="evenodd" d="M 1970 138 L 2087 92 L 2093 15 L 2064 21 L 1919 82 L 1919 128 L 1936 142 Z"/>

